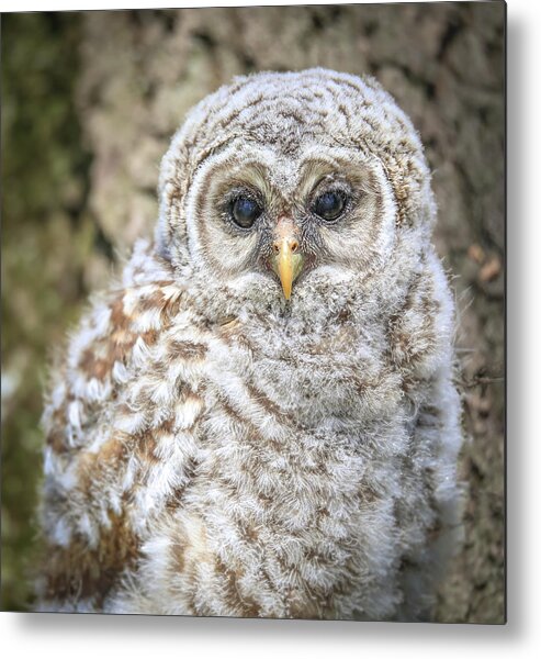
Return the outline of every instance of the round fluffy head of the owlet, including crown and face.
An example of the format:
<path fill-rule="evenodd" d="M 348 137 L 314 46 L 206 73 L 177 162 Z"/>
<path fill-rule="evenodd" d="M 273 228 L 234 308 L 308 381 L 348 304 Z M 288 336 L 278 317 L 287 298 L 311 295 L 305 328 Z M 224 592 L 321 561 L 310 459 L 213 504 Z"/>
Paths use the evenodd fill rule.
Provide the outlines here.
<path fill-rule="evenodd" d="M 375 80 L 239 77 L 190 112 L 164 157 L 158 249 L 229 300 L 330 304 L 397 252 L 404 277 L 404 249 L 419 253 L 435 215 L 429 179 Z"/>

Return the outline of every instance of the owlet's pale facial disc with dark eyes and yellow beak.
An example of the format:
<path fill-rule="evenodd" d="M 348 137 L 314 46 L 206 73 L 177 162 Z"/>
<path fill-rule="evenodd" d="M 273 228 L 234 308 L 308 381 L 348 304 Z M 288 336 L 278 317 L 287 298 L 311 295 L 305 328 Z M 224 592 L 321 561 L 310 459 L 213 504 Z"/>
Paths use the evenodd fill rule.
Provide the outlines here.
<path fill-rule="evenodd" d="M 187 225 L 201 272 L 290 300 L 316 277 L 383 265 L 395 206 L 381 166 L 354 149 L 303 146 L 291 154 L 237 138 L 199 168 Z"/>

